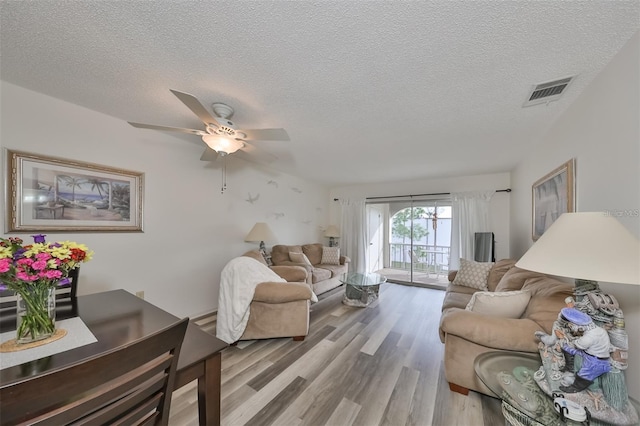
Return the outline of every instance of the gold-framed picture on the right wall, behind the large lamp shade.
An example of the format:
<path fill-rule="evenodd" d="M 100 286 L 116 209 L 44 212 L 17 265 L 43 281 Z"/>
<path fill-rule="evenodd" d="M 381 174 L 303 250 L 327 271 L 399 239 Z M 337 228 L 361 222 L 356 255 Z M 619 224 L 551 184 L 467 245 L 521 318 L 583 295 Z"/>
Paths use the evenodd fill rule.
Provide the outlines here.
<path fill-rule="evenodd" d="M 575 159 L 538 179 L 531 192 L 532 237 L 536 241 L 562 213 L 575 210 Z"/>

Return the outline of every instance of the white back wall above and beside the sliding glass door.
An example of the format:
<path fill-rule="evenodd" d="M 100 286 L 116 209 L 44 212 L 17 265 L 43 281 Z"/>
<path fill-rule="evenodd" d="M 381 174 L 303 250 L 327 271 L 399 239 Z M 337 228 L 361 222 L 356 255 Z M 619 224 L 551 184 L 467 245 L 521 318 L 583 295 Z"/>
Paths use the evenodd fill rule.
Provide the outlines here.
<path fill-rule="evenodd" d="M 380 167 L 384 167 L 384 160 L 382 160 Z M 331 189 L 331 198 L 347 199 L 488 189 L 498 190 L 509 187 L 509 173 L 495 173 L 337 187 Z M 508 258 L 510 253 L 509 198 L 511 196 L 509 193 L 497 192 L 491 199 L 491 231 L 495 234 L 496 239 L 496 259 Z M 340 224 L 340 214 L 340 206 L 335 202 L 331 208 L 331 223 Z"/>

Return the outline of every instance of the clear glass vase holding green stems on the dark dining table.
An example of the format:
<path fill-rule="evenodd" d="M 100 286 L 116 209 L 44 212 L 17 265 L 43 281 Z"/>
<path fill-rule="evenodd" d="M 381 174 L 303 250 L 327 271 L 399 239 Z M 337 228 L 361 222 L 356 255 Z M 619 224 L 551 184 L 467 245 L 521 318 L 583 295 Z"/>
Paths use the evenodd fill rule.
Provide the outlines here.
<path fill-rule="evenodd" d="M 16 342 L 31 343 L 51 337 L 56 329 L 56 294 L 51 286 L 16 292 Z"/>

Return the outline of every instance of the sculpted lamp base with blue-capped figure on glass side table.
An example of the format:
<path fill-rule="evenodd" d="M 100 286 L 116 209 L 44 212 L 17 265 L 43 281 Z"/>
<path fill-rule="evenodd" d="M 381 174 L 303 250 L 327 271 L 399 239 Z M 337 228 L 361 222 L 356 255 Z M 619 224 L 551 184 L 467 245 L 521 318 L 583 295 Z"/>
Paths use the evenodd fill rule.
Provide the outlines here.
<path fill-rule="evenodd" d="M 617 300 L 595 281 L 576 280 L 574 297 L 565 303 L 551 334 L 535 333 L 542 361 L 533 375 L 535 382 L 567 407 L 583 407 L 587 423 L 638 424 L 625 383 L 629 343 Z"/>

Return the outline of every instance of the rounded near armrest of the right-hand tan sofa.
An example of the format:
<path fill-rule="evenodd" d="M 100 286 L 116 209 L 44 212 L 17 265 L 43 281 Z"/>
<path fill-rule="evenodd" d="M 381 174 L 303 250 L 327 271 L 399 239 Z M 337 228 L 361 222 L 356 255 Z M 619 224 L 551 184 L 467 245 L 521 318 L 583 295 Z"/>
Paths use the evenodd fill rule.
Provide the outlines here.
<path fill-rule="evenodd" d="M 445 311 L 440 318 L 441 334 L 453 334 L 478 345 L 509 351 L 537 352 L 536 331 L 544 330 L 528 318 L 503 318 L 459 308 Z"/>

